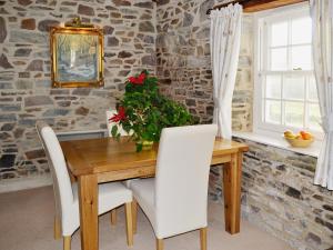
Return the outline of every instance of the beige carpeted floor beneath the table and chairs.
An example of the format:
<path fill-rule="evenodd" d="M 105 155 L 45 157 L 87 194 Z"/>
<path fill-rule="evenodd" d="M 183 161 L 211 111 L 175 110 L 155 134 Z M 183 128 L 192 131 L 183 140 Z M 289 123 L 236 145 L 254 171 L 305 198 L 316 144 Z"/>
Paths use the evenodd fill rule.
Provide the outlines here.
<path fill-rule="evenodd" d="M 284 242 L 269 236 L 246 221 L 241 233 L 224 231 L 222 206 L 209 203 L 208 250 L 291 250 Z M 127 246 L 123 208 L 117 224 L 110 213 L 100 217 L 100 250 L 154 250 L 155 238 L 150 223 L 140 211 L 134 246 Z M 0 193 L 0 249 L 61 250 L 62 241 L 53 239 L 53 192 L 51 187 L 28 191 Z M 72 250 L 80 249 L 80 233 L 72 239 Z M 199 250 L 199 231 L 164 240 L 164 250 Z"/>

